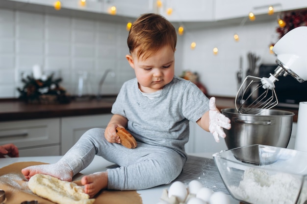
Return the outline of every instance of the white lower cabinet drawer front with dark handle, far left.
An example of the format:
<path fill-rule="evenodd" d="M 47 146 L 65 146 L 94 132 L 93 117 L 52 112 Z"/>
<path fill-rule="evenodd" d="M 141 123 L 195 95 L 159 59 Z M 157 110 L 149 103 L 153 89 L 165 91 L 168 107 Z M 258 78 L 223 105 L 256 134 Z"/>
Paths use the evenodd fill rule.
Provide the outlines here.
<path fill-rule="evenodd" d="M 60 119 L 0 122 L 0 145 L 14 143 L 20 156 L 60 155 Z"/>

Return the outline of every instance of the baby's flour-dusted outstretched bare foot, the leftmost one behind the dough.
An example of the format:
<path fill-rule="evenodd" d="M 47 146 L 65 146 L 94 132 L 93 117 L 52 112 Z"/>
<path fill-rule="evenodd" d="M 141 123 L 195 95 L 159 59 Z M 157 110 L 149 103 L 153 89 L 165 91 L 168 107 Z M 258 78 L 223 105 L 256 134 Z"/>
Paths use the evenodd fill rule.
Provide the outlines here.
<path fill-rule="evenodd" d="M 29 180 L 35 174 L 50 175 L 62 181 L 72 181 L 74 176 L 73 170 L 64 162 L 29 166 L 22 169 L 21 172 L 27 180 Z"/>

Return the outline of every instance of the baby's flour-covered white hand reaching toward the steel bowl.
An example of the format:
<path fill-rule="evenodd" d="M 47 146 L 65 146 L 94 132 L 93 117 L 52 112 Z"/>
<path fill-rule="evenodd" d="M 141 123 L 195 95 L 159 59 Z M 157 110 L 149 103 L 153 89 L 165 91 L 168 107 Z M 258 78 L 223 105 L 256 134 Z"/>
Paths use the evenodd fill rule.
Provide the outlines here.
<path fill-rule="evenodd" d="M 225 138 L 223 128 L 230 129 L 230 119 L 219 112 L 215 105 L 215 97 L 211 97 L 209 101 L 209 131 L 213 134 L 216 142 L 220 141 L 220 137 Z"/>

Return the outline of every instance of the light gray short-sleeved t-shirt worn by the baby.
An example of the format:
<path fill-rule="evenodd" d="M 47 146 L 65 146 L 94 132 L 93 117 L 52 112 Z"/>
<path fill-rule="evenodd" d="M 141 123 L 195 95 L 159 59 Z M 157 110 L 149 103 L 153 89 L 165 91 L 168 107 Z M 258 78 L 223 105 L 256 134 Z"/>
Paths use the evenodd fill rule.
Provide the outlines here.
<path fill-rule="evenodd" d="M 128 119 L 127 130 L 136 140 L 186 157 L 189 121 L 196 122 L 209 110 L 209 99 L 195 84 L 176 76 L 154 99 L 138 89 L 136 78 L 125 82 L 111 112 Z"/>

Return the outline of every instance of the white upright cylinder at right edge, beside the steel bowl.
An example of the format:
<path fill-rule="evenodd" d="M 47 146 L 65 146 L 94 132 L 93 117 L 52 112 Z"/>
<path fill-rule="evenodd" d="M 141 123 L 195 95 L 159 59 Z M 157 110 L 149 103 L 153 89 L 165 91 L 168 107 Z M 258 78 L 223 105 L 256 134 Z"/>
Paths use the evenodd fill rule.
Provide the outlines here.
<path fill-rule="evenodd" d="M 295 150 L 307 152 L 307 101 L 300 102 L 297 119 Z"/>

